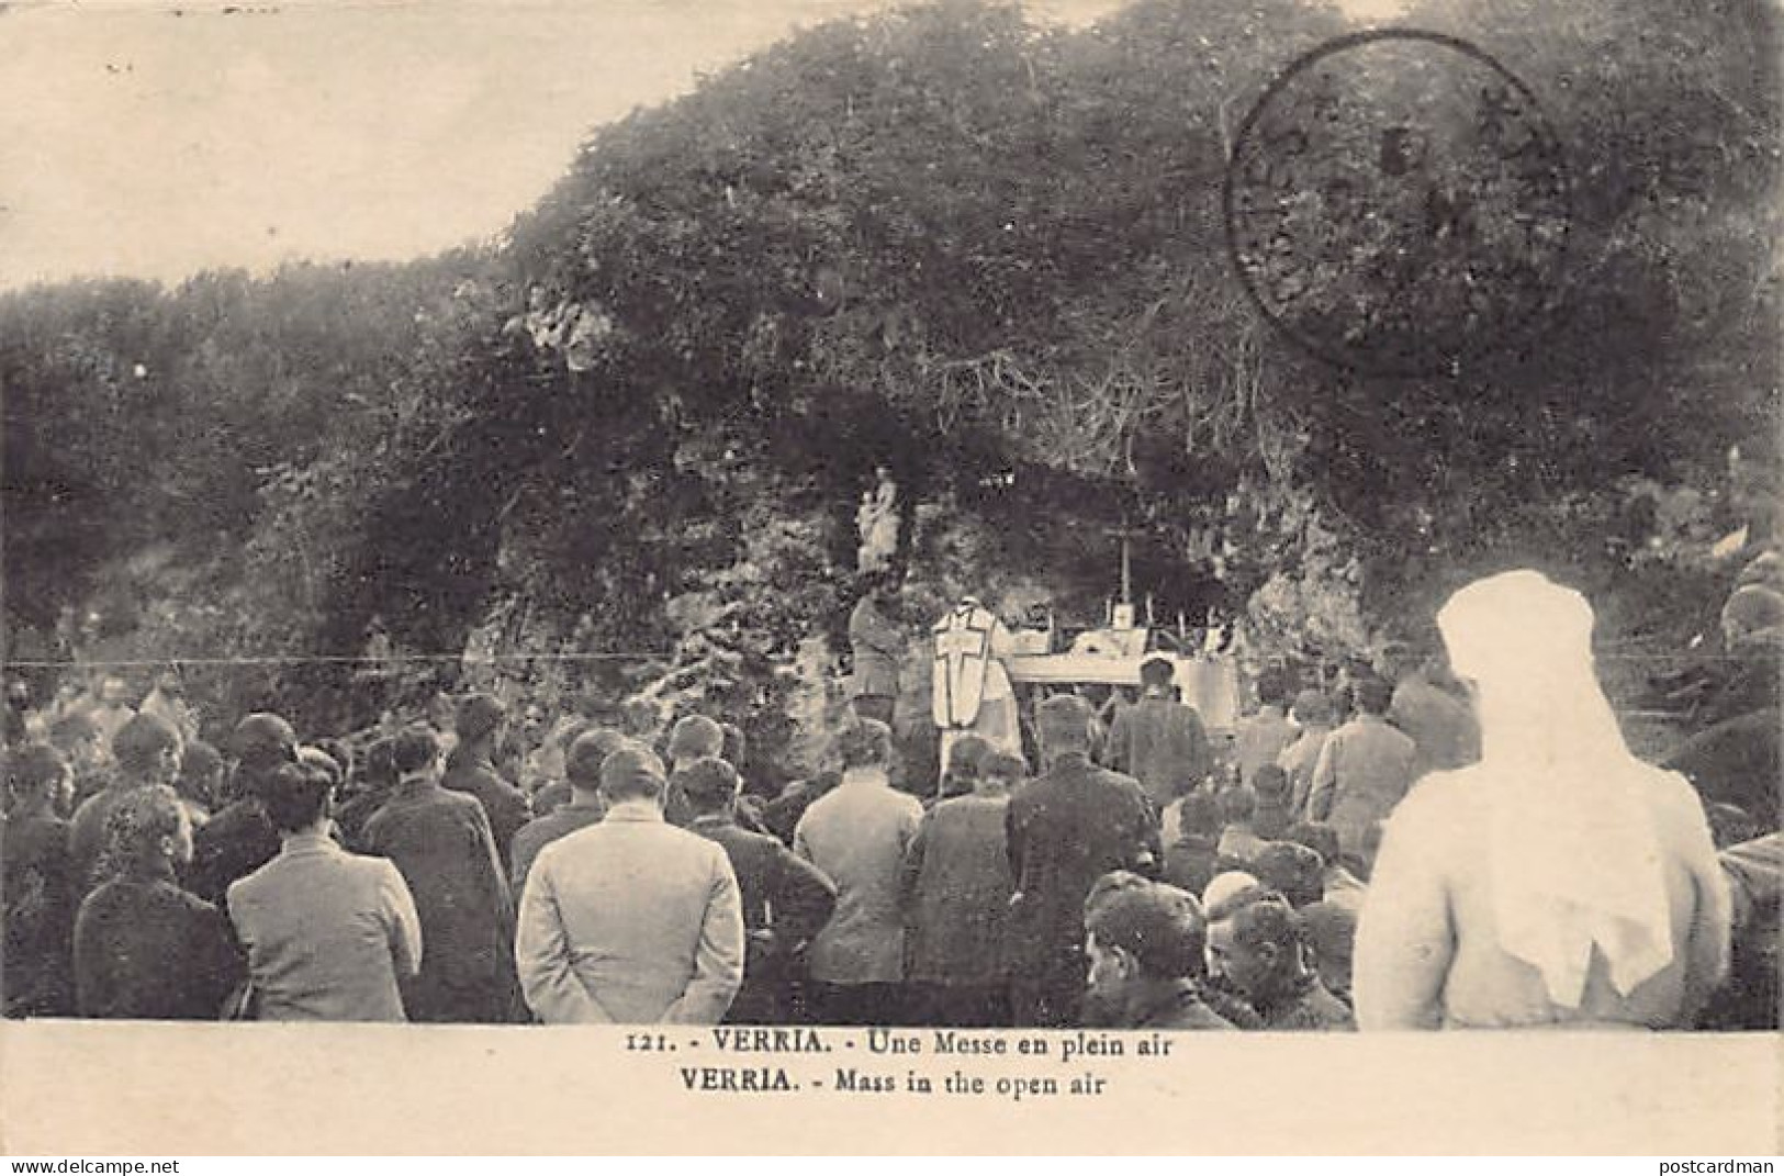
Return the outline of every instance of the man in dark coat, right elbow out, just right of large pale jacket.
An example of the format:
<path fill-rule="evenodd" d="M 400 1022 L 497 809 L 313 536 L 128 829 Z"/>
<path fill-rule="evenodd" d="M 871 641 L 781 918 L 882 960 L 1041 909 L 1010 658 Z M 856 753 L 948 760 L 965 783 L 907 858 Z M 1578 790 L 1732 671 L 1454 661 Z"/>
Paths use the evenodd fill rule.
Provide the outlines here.
<path fill-rule="evenodd" d="M 737 824 L 742 778 L 726 760 L 696 760 L 676 774 L 694 812 L 687 832 L 719 842 L 744 901 L 744 987 L 724 1019 L 785 1024 L 805 948 L 830 921 L 837 887 L 781 842 Z"/>

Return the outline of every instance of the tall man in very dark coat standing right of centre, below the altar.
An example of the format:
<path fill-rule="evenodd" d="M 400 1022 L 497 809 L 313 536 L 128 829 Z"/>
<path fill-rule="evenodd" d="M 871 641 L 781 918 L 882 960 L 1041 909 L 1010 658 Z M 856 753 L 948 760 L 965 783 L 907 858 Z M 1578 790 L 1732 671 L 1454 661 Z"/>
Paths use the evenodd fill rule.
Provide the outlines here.
<path fill-rule="evenodd" d="M 1076 1024 L 1085 992 L 1085 896 L 1103 874 L 1152 869 L 1158 826 L 1138 782 L 1090 762 L 1090 703 L 1056 694 L 1035 710 L 1045 774 L 1004 814 L 1008 948 L 1017 1026 Z"/>

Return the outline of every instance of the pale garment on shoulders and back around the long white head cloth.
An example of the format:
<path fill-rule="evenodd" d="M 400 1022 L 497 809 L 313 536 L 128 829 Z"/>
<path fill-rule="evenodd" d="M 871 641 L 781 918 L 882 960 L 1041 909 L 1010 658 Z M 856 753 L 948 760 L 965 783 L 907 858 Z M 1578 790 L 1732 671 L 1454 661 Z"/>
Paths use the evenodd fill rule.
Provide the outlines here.
<path fill-rule="evenodd" d="M 1595 951 L 1581 1006 L 1563 1008 L 1549 999 L 1543 974 L 1507 955 L 1495 933 L 1490 846 L 1481 835 L 1490 828 L 1491 785 L 1479 767 L 1434 773 L 1388 821 L 1358 924 L 1358 1024 L 1689 1028 L 1729 962 L 1729 887 L 1691 787 L 1656 773 L 1645 796 L 1664 862 L 1672 964 L 1625 996 Z"/>

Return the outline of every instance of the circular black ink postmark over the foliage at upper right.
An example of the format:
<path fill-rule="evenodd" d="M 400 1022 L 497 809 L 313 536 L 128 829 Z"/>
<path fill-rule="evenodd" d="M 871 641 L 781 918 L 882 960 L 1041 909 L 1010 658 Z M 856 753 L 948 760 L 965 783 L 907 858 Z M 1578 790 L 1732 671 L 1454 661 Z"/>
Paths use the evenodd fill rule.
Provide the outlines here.
<path fill-rule="evenodd" d="M 1227 248 L 1263 314 L 1368 375 L 1456 375 L 1524 348 L 1566 261 L 1561 143 L 1524 82 L 1450 36 L 1327 41 L 1247 114 Z"/>

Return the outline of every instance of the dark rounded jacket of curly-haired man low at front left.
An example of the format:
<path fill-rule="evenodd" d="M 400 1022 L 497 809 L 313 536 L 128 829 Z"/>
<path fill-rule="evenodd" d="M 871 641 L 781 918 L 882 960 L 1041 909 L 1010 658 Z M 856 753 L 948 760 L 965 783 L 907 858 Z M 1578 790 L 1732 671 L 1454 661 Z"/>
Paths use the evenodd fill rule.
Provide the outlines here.
<path fill-rule="evenodd" d="M 212 1021 L 241 976 L 223 914 L 175 885 L 171 869 L 114 878 L 80 905 L 82 1017 Z"/>

